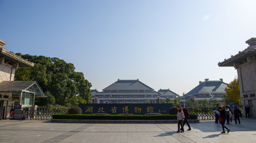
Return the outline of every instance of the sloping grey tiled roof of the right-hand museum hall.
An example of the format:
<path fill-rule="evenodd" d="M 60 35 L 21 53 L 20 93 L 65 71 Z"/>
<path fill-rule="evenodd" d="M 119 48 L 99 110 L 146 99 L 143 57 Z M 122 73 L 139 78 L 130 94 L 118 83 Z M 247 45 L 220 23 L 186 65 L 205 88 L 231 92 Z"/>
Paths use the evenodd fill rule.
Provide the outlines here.
<path fill-rule="evenodd" d="M 224 94 L 226 87 L 227 84 L 222 81 L 205 81 L 186 93 L 185 97 L 196 94 Z"/>

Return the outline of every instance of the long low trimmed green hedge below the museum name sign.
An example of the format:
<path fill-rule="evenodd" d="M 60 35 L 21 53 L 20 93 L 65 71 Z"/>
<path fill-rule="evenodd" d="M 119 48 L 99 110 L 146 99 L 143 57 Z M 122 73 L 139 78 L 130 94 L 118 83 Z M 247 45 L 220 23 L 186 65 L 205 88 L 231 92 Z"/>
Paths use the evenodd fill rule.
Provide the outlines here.
<path fill-rule="evenodd" d="M 188 120 L 196 120 L 196 114 L 189 114 Z M 53 119 L 70 119 L 70 120 L 177 120 L 177 115 L 96 115 L 96 114 L 65 114 L 58 113 L 52 115 Z"/>

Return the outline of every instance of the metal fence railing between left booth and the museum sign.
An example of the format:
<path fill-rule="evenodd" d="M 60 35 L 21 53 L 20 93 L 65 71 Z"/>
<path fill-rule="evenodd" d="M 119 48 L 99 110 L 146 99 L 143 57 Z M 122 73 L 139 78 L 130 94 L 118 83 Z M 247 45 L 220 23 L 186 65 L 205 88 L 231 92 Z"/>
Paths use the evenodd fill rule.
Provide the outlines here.
<path fill-rule="evenodd" d="M 26 120 L 51 120 L 56 113 L 67 113 L 69 107 L 24 107 L 22 118 Z"/>

